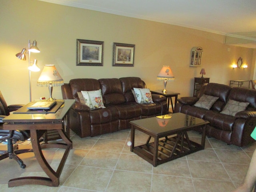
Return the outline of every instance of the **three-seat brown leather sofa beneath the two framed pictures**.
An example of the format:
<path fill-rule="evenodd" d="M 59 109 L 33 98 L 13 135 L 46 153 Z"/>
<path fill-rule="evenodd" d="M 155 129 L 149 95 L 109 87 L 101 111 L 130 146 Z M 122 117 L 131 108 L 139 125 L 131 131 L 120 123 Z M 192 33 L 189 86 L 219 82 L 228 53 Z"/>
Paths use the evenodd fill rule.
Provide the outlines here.
<path fill-rule="evenodd" d="M 152 94 L 151 104 L 135 102 L 133 88 L 146 88 L 138 77 L 72 79 L 62 85 L 63 99 L 75 99 L 70 109 L 70 128 L 81 138 L 130 128 L 130 121 L 167 113 L 166 97 Z M 102 91 L 106 108 L 90 110 L 78 97 L 81 91 Z"/>

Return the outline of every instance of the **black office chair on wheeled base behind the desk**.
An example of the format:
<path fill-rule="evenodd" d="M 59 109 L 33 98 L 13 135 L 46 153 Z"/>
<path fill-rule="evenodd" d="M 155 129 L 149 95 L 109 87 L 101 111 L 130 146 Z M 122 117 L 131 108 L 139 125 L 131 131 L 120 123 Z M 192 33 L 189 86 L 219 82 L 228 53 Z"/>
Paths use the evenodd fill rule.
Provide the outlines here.
<path fill-rule="evenodd" d="M 7 151 L 0 150 L 0 160 L 9 157 L 14 159 L 20 164 L 21 168 L 25 168 L 26 165 L 23 161 L 17 156 L 21 153 L 33 152 L 31 149 L 18 150 L 18 145 L 13 143 L 17 141 L 25 141 L 30 138 L 30 132 L 26 130 L 3 130 L 3 118 L 10 115 L 10 112 L 18 110 L 24 105 L 9 105 L 7 106 L 4 97 L 0 91 L 0 142 L 7 140 Z"/>

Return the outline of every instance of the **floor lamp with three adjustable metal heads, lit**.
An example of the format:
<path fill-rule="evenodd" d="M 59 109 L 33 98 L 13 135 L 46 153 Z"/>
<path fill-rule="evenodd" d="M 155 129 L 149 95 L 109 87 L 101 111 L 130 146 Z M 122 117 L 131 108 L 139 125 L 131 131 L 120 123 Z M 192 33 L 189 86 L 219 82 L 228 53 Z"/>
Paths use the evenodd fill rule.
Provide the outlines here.
<path fill-rule="evenodd" d="M 32 45 L 32 46 L 31 46 Z M 20 53 L 16 54 L 16 57 L 20 60 L 26 60 L 26 48 L 22 49 Z M 39 53 L 40 50 L 37 48 L 36 40 L 33 43 L 30 43 L 28 40 L 28 80 L 29 80 L 29 102 L 31 102 L 31 71 L 37 72 L 40 71 L 40 68 L 37 66 L 37 60 L 35 59 L 34 62 L 30 61 L 30 52 Z M 30 65 L 33 63 L 32 65 Z"/>

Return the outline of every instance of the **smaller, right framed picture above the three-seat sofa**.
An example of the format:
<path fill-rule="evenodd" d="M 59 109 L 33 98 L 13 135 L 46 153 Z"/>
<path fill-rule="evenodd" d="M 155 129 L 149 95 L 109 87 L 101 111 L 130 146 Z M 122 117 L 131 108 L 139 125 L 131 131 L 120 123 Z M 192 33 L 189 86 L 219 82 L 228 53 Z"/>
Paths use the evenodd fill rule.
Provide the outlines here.
<path fill-rule="evenodd" d="M 134 66 L 135 45 L 114 43 L 113 44 L 113 64 L 112 66 Z"/>

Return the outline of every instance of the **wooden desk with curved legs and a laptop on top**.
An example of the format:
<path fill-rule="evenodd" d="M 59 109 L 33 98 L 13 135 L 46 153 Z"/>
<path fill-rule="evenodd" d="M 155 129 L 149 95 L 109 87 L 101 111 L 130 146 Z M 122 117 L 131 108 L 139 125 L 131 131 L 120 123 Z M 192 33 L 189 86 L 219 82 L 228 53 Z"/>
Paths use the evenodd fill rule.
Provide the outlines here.
<path fill-rule="evenodd" d="M 40 113 L 40 114 L 10 114 L 3 119 L 4 130 L 30 130 L 31 143 L 33 152 L 38 163 L 48 175 L 46 177 L 20 177 L 9 180 L 8 187 L 20 186 L 25 184 L 37 184 L 57 187 L 60 184 L 60 174 L 68 157 L 70 149 L 72 149 L 72 141 L 69 139 L 69 109 L 75 100 L 64 100 L 64 104 L 56 111 L 56 113 Z M 26 106 L 24 106 L 26 107 Z M 64 129 L 66 128 L 66 132 Z M 58 134 L 65 143 L 50 142 L 40 145 L 40 137 L 46 130 L 57 130 Z M 57 171 L 55 172 L 48 164 L 42 153 L 43 148 L 63 148 L 66 149 Z"/>

